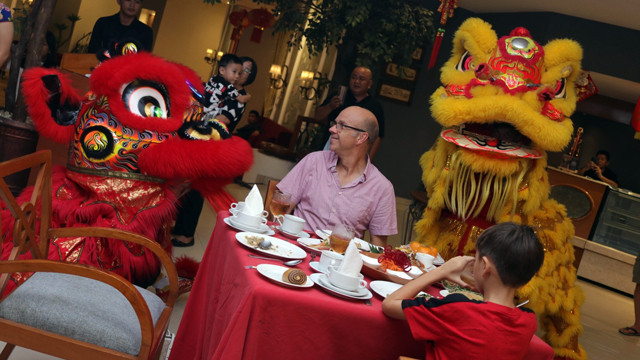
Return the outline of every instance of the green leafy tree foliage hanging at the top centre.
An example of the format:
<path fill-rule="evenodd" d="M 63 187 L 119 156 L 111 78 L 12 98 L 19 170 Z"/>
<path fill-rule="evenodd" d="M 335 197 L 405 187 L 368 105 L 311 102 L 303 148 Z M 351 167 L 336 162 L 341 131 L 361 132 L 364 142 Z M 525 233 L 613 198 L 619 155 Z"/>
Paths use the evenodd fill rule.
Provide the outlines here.
<path fill-rule="evenodd" d="M 435 34 L 433 12 L 420 0 L 253 1 L 273 6 L 274 30 L 290 33 L 290 46 L 300 46 L 306 38 L 311 55 L 337 46 L 332 85 L 345 80 L 355 65 L 374 72 L 388 62 L 409 65 L 416 48 Z"/>

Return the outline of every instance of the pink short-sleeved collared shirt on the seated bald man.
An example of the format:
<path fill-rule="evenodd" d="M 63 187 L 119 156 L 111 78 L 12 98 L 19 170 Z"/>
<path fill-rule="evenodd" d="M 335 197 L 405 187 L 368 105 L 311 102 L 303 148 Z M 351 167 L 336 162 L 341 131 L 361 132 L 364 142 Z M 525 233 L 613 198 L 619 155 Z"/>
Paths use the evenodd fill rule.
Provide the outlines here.
<path fill-rule="evenodd" d="M 317 151 L 304 157 L 278 184 L 291 194 L 294 215 L 307 221 L 305 229 L 331 229 L 342 222 L 354 227 L 356 236 L 364 231 L 388 236 L 398 233 L 393 185 L 367 159 L 364 173 L 340 186 L 333 151 Z"/>

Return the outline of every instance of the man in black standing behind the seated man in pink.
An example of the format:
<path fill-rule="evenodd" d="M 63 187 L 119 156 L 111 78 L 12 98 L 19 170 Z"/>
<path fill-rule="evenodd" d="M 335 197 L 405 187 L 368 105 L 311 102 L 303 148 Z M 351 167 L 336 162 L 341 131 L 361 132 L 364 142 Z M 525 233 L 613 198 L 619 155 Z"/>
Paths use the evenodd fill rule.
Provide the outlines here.
<path fill-rule="evenodd" d="M 316 109 L 315 118 L 318 120 L 334 121 L 338 114 L 349 106 L 360 106 L 373 113 L 378 121 L 378 138 L 369 150 L 369 156 L 373 158 L 384 137 L 384 111 L 378 100 L 369 95 L 369 89 L 373 84 L 373 74 L 371 70 L 364 66 L 358 66 L 351 72 L 349 78 L 349 89 L 344 99 L 338 94 L 330 94 L 325 101 Z M 327 143 L 327 146 L 329 144 Z M 328 148 L 325 147 L 325 150 Z"/>

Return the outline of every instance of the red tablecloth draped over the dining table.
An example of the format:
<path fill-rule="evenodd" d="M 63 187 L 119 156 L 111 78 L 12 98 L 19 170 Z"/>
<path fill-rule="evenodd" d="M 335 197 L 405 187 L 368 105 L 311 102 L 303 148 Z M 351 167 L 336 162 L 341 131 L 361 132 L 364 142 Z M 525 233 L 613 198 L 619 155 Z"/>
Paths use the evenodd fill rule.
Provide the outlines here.
<path fill-rule="evenodd" d="M 291 288 L 261 275 L 257 265 L 282 264 L 250 257 L 262 254 L 236 239 L 228 216 L 217 214 L 169 359 L 425 358 L 426 344 L 413 339 L 406 321 L 383 314 L 381 296 L 346 299 L 317 284 Z M 278 231 L 272 236 L 297 244 Z M 306 255 L 294 268 L 310 275 Z"/>

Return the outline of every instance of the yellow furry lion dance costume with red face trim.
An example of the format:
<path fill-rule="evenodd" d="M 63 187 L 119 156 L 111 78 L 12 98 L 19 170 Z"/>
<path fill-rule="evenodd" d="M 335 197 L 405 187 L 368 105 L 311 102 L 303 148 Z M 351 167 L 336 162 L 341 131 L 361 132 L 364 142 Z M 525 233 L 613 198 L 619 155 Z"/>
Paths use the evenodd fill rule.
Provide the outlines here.
<path fill-rule="evenodd" d="M 476 18 L 453 42 L 443 86 L 431 96 L 444 129 L 420 159 L 429 202 L 416 224 L 418 241 L 449 259 L 472 254 L 493 224 L 533 226 L 545 260 L 517 300 L 530 300 L 556 358 L 586 359 L 578 344 L 584 295 L 575 286 L 574 228 L 564 206 L 549 199 L 545 169 L 545 151 L 571 140 L 582 48 L 567 39 L 543 47 L 524 28 L 498 39 Z"/>

